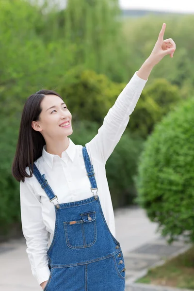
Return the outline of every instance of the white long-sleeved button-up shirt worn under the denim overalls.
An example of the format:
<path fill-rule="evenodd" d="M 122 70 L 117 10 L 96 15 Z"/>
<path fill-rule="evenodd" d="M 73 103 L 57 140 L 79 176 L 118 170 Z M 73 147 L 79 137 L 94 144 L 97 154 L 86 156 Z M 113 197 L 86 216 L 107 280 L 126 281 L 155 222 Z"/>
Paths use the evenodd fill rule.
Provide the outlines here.
<path fill-rule="evenodd" d="M 145 84 L 146 81 L 139 78 L 136 73 L 133 75 L 105 116 L 97 135 L 85 145 L 94 166 L 97 194 L 103 214 L 114 237 L 113 205 L 105 164 L 126 129 L 129 115 L 133 112 Z M 59 203 L 87 199 L 93 195 L 82 156 L 82 146 L 75 145 L 70 138 L 69 146 L 62 153 L 62 158 L 49 154 L 45 145 L 42 156 L 35 164 L 40 173 L 45 174 Z M 26 172 L 30 174 L 28 167 Z M 55 206 L 49 201 L 35 176 L 25 178 L 24 182 L 20 181 L 20 207 L 22 231 L 26 239 L 26 252 L 32 275 L 41 284 L 48 280 L 50 274 L 47 250 L 54 234 Z"/>

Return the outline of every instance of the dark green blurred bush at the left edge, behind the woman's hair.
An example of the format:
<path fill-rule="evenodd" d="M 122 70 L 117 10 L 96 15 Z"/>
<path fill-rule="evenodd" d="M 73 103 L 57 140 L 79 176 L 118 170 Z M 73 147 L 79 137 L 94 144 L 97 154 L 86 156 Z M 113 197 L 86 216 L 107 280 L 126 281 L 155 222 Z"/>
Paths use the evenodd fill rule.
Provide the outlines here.
<path fill-rule="evenodd" d="M 16 151 L 16 123 L 0 120 L 0 234 L 7 234 L 9 225 L 20 222 L 19 183 L 11 174 Z"/>

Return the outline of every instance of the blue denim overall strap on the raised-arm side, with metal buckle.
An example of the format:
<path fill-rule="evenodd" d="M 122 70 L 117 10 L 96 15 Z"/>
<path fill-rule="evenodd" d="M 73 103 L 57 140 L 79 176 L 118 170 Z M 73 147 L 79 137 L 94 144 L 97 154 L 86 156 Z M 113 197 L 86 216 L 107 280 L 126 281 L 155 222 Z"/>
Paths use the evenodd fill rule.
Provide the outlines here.
<path fill-rule="evenodd" d="M 93 190 L 96 190 L 96 195 L 95 195 L 95 199 L 97 199 L 97 182 L 96 182 L 96 178 L 95 178 L 95 172 L 94 172 L 94 168 L 93 165 L 91 164 L 90 161 L 90 157 L 88 155 L 86 146 L 82 147 L 82 153 L 83 153 L 83 159 L 85 162 L 85 167 L 86 167 L 86 171 L 87 171 L 87 176 L 90 180 L 90 184 L 91 184 L 91 191 L 94 194 Z"/>

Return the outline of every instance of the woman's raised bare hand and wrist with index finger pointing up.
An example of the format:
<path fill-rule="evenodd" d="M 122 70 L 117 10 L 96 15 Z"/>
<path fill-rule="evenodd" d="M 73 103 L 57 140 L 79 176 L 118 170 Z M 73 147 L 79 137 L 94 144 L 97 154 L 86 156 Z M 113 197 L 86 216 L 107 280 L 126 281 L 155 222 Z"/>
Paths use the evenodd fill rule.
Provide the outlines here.
<path fill-rule="evenodd" d="M 176 50 L 176 44 L 172 38 L 168 38 L 163 40 L 164 32 L 165 32 L 166 24 L 163 23 L 162 30 L 159 33 L 158 40 L 152 50 L 150 56 L 146 60 L 146 62 L 141 66 L 137 75 L 144 80 L 147 80 L 149 74 L 153 67 L 158 64 L 164 56 L 170 55 L 173 57 L 173 54 Z"/>

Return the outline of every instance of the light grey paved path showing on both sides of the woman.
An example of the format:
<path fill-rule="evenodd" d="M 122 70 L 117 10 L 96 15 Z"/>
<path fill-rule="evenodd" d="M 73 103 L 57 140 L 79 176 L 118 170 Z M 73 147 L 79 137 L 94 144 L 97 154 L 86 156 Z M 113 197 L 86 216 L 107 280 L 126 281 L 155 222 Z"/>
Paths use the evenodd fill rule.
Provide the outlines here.
<path fill-rule="evenodd" d="M 120 242 L 126 265 L 126 291 L 174 291 L 133 282 L 146 274 L 149 266 L 161 263 L 164 257 L 183 252 L 188 246 L 181 241 L 167 246 L 160 234 L 156 234 L 157 224 L 151 223 L 142 209 L 122 208 L 114 210 L 114 216 L 115 237 Z M 42 290 L 32 276 L 23 237 L 0 244 L 0 290 Z"/>

